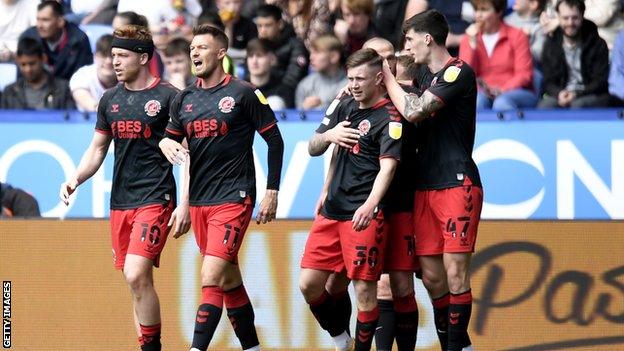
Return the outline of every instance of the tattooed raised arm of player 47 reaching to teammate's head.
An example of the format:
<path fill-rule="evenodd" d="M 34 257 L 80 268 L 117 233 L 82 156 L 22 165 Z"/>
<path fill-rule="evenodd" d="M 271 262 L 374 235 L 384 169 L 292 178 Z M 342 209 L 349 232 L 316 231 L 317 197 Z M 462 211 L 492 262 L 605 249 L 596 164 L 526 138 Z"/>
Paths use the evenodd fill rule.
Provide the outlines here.
<path fill-rule="evenodd" d="M 411 123 L 419 122 L 431 117 L 431 114 L 444 106 L 444 102 L 437 96 L 426 90 L 422 96 L 407 93 L 396 78 L 392 75 L 387 62 L 384 61 L 384 84 L 388 89 L 390 100 L 401 112 L 403 117 Z"/>

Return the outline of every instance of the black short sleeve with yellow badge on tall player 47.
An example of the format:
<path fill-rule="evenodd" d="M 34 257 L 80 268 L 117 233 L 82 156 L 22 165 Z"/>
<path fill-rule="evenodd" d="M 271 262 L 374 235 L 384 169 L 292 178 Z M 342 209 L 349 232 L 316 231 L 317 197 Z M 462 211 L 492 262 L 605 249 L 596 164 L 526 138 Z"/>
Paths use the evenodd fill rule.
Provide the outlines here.
<path fill-rule="evenodd" d="M 442 77 L 427 90 L 447 103 L 455 97 L 463 95 L 471 85 L 476 86 L 475 75 L 470 66 L 458 61 L 444 69 Z"/>

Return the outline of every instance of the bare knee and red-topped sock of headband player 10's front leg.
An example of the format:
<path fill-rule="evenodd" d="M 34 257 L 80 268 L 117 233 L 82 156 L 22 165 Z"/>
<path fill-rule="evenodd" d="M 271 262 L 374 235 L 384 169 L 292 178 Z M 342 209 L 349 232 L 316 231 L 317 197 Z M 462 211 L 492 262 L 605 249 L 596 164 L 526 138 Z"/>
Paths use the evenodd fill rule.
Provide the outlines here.
<path fill-rule="evenodd" d="M 123 269 L 141 333 L 141 350 L 160 350 L 160 302 L 154 289 L 152 260 L 126 255 Z"/>

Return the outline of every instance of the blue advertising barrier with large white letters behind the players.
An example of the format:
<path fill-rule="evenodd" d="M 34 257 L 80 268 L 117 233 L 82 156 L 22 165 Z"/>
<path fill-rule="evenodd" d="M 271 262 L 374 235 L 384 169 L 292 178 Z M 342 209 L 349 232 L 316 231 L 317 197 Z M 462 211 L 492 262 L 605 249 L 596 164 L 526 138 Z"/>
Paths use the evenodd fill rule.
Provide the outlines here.
<path fill-rule="evenodd" d="M 484 185 L 483 218 L 623 219 L 621 112 L 480 113 L 473 156 Z M 307 113 L 303 120 L 297 111 L 277 115 L 285 141 L 277 215 L 310 218 L 329 161 L 307 153 L 322 113 Z M 46 217 L 107 217 L 112 148 L 69 207 L 58 199 L 59 185 L 74 173 L 93 127 L 93 116 L 75 112 L 0 111 L 0 181 L 31 192 Z M 260 201 L 267 171 L 262 138 L 254 149 Z"/>

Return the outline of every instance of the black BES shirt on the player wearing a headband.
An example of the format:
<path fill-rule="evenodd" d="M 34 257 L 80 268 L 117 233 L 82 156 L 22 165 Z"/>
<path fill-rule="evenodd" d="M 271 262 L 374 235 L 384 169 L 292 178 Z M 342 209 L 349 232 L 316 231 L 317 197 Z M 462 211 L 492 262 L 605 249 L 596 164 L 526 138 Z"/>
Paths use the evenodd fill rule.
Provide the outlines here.
<path fill-rule="evenodd" d="M 157 79 L 144 90 L 120 83 L 98 105 L 97 132 L 115 145 L 111 209 L 132 209 L 175 201 L 172 166 L 158 147 L 165 135 L 177 89 Z"/>

